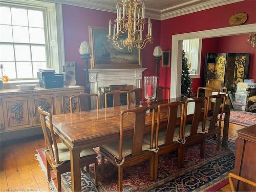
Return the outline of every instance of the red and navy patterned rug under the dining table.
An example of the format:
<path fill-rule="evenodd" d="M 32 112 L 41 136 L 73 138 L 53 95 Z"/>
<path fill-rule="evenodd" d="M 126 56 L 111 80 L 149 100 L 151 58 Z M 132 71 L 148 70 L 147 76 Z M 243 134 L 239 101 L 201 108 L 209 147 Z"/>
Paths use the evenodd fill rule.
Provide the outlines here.
<path fill-rule="evenodd" d="M 94 148 L 98 153 L 99 148 Z M 234 167 L 234 143 L 228 141 L 228 147 L 216 150 L 216 140 L 206 139 L 205 158 L 200 158 L 199 145 L 186 147 L 185 167 L 178 169 L 177 153 L 170 153 L 159 157 L 158 180 L 151 181 L 148 162 L 124 169 L 124 191 L 216 191 L 228 184 L 227 175 Z M 37 150 L 36 157 L 42 169 L 46 172 L 44 148 Z M 98 156 L 100 160 L 100 155 Z M 100 164 L 100 161 L 99 161 Z M 99 171 L 99 187 L 95 187 L 92 180 L 93 165 L 90 172 L 81 172 L 82 191 L 116 191 L 118 182 L 117 168 L 106 160 L 105 173 L 102 177 Z M 52 178 L 54 174 L 52 173 Z M 52 190 L 56 190 L 53 182 Z M 71 173 L 61 176 L 62 189 L 71 191 Z"/>

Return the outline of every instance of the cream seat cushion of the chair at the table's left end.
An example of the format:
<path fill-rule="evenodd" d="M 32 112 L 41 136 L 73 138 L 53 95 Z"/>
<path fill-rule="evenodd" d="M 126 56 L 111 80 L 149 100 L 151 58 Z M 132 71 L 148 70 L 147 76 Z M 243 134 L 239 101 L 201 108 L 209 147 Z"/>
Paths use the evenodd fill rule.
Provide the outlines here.
<path fill-rule="evenodd" d="M 54 148 L 54 146 L 52 145 Z M 59 152 L 59 161 L 69 161 L 70 160 L 70 152 L 69 148 L 64 143 L 57 143 L 58 152 Z M 80 153 L 80 157 L 85 157 L 89 155 L 97 154 L 92 148 L 87 148 Z"/>

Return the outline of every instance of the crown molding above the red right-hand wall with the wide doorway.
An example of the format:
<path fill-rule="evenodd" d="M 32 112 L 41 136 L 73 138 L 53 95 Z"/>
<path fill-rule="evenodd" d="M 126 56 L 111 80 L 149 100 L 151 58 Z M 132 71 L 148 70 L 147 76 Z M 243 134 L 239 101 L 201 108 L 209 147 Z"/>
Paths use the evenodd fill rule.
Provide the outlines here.
<path fill-rule="evenodd" d="M 173 18 L 173 17 L 177 17 L 177 16 L 181 16 L 181 15 L 186 15 L 189 13 L 194 13 L 197 11 L 202 11 L 205 9 L 219 7 L 219 6 L 223 6 L 223 5 L 227 5 L 227 4 L 237 3 L 237 2 L 241 2 L 241 1 L 244 1 L 244 0 L 210 0 L 208 2 L 184 7 L 181 9 L 174 10 L 174 11 L 169 11 L 169 9 L 167 11 L 162 10 L 161 11 L 161 20 L 165 20 L 168 18 Z"/>

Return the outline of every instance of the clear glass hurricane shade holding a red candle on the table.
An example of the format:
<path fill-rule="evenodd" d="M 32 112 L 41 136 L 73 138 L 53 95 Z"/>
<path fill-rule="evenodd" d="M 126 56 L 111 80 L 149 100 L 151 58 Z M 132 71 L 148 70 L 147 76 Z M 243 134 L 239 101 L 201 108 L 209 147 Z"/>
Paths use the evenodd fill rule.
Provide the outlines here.
<path fill-rule="evenodd" d="M 147 100 L 153 100 L 157 96 L 157 77 L 145 76 L 144 77 L 144 93 Z"/>

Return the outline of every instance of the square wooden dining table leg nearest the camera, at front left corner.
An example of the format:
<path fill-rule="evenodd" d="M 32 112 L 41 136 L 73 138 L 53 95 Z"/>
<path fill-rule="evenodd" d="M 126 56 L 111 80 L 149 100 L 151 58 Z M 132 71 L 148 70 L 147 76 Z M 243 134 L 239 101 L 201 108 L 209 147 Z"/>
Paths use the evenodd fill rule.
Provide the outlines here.
<path fill-rule="evenodd" d="M 70 166 L 72 191 L 81 191 L 80 150 L 78 147 L 70 149 Z"/>

